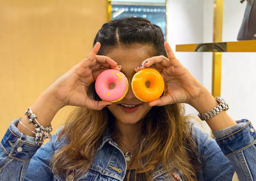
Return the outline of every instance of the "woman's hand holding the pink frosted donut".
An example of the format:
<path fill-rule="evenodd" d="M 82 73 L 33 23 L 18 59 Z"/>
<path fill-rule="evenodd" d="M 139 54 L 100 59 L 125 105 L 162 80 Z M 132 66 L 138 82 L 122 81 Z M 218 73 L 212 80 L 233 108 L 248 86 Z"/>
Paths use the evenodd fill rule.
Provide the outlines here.
<path fill-rule="evenodd" d="M 59 104 L 62 104 L 60 107 L 70 105 L 100 110 L 111 104 L 104 100 L 92 100 L 87 95 L 88 87 L 103 70 L 107 68 L 120 70 L 113 59 L 97 56 L 99 49 L 100 43 L 97 42 L 87 58 L 72 67 L 46 90 Z"/>

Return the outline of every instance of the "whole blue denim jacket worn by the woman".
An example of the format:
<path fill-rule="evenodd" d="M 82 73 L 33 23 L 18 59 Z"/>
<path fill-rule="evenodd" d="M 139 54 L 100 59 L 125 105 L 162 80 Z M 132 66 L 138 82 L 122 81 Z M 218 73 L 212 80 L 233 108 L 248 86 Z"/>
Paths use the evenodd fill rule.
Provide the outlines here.
<path fill-rule="evenodd" d="M 0 145 L 0 180 L 72 180 L 54 174 L 49 161 L 55 150 L 67 144 L 66 139 L 57 141 L 58 132 L 52 141 L 36 146 L 35 138 L 22 134 L 14 120 Z M 236 171 L 239 180 L 256 180 L 256 131 L 248 120 L 239 120 L 237 125 L 213 132 L 216 139 L 191 125 L 191 136 L 198 146 L 200 170 L 198 180 L 232 180 Z M 124 180 L 125 157 L 110 134 L 104 134 L 90 169 L 77 180 Z M 76 174 L 76 171 L 74 171 Z M 173 166 L 172 175 L 167 175 L 161 164 L 154 170 L 154 180 L 184 180 Z"/>

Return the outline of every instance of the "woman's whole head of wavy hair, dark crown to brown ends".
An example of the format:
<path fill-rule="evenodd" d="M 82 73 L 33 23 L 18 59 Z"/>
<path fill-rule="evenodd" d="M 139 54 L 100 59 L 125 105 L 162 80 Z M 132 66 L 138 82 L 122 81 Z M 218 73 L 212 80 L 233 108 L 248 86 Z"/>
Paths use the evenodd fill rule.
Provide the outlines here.
<path fill-rule="evenodd" d="M 96 42 L 101 44 L 98 54 L 102 55 L 118 45 L 140 43 L 153 47 L 155 56 L 167 56 L 163 32 L 159 26 L 143 18 L 129 17 L 103 24 L 93 44 Z M 88 95 L 100 100 L 94 84 L 90 86 Z M 139 163 L 136 173 L 146 173 L 148 180 L 152 180 L 154 169 L 162 164 L 169 175 L 175 166 L 186 180 L 196 180 L 197 148 L 191 138 L 188 119 L 180 104 L 152 107 L 140 120 L 141 146 L 136 156 Z M 92 165 L 104 130 L 108 128 L 114 134 L 113 123 L 115 117 L 107 107 L 101 111 L 77 107 L 68 116 L 59 134 L 58 139 L 66 138 L 68 143 L 52 156 L 54 172 L 67 177 L 76 169 L 75 178 L 86 173 Z"/>

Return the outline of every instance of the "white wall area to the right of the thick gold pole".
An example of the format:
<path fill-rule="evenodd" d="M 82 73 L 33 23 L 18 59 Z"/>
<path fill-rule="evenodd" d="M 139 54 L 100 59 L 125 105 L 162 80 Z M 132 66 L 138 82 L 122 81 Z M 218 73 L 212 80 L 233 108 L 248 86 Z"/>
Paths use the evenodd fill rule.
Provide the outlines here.
<path fill-rule="evenodd" d="M 236 40 L 245 7 L 246 2 L 224 1 L 223 41 Z M 256 126 L 256 52 L 225 53 L 222 66 L 222 96 L 230 103 L 231 116 L 234 119 L 248 118 Z"/>

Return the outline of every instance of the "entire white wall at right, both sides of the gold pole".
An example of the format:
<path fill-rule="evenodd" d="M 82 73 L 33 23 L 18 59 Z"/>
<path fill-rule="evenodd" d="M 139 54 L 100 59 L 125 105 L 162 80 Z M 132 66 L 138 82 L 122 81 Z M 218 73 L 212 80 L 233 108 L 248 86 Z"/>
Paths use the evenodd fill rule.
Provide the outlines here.
<path fill-rule="evenodd" d="M 223 41 L 236 41 L 246 1 L 225 0 Z M 168 0 L 167 40 L 175 45 L 212 42 L 213 0 Z M 175 52 L 181 63 L 211 91 L 212 53 Z M 222 54 L 221 97 L 227 100 L 228 113 L 235 120 L 248 118 L 256 125 L 256 53 Z M 186 107 L 188 113 L 195 109 Z"/>

